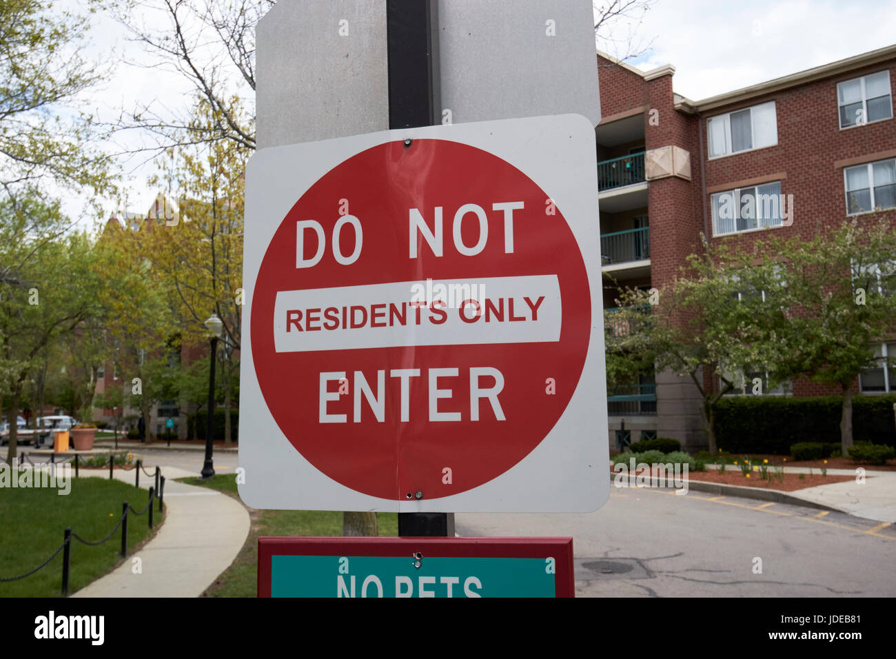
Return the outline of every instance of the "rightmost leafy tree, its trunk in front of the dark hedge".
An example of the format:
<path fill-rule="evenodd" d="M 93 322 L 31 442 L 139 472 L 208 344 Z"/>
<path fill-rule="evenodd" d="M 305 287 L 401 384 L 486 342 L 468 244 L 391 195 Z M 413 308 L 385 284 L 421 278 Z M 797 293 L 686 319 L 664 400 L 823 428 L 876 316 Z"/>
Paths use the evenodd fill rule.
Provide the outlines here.
<path fill-rule="evenodd" d="M 794 313 L 779 335 L 777 370 L 839 386 L 840 443 L 853 444 L 852 384 L 879 358 L 874 343 L 896 328 L 896 233 L 885 221 L 849 221 L 808 241 L 770 240 L 757 250 L 787 262 L 787 294 Z"/>

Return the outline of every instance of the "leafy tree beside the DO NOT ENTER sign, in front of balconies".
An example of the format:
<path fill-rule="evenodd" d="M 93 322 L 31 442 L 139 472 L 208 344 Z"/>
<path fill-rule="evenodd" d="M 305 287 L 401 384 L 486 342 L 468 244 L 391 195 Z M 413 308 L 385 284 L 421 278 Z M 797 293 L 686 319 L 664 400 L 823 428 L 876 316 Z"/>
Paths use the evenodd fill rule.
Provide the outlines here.
<path fill-rule="evenodd" d="M 771 385 L 780 381 L 770 365 L 782 359 L 778 337 L 790 312 L 780 264 L 771 256 L 754 264 L 752 253 L 728 243 L 711 247 L 704 241 L 704 249 L 702 256 L 689 256 L 678 278 L 658 294 L 624 290 L 622 308 L 605 313 L 605 328 L 608 372 L 615 377 L 652 361 L 658 371 L 690 378 L 702 397 L 714 455 L 716 404 L 735 388 L 733 374 L 771 370 Z"/>

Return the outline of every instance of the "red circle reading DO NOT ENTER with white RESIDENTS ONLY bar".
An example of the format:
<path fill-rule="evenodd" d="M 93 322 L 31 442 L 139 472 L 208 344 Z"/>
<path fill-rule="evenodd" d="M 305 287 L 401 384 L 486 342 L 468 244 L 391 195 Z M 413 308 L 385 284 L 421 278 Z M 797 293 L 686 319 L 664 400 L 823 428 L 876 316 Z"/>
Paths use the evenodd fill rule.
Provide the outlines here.
<path fill-rule="evenodd" d="M 251 289 L 251 375 L 304 460 L 377 499 L 443 499 L 512 470 L 555 429 L 602 332 L 554 192 L 477 145 L 419 136 L 459 128 L 383 134 L 260 220 L 275 226 Z"/>

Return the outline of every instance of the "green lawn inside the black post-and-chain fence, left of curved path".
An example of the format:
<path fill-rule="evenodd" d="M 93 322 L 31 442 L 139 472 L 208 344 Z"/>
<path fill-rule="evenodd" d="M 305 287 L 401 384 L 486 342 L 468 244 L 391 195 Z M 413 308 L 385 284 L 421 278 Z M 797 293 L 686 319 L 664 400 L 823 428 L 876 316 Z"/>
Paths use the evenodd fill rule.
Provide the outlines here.
<path fill-rule="evenodd" d="M 118 523 L 128 501 L 137 510 L 146 507 L 147 490 L 121 481 L 72 477 L 72 491 L 59 495 L 53 488 L 0 489 L 0 578 L 18 577 L 46 560 L 63 542 L 66 526 L 84 540 L 105 538 Z M 161 515 L 154 504 L 153 522 Z M 128 515 L 128 555 L 148 539 L 147 515 Z M 74 593 L 107 574 L 121 560 L 121 530 L 108 542 L 91 547 L 72 539 L 69 592 Z M 60 551 L 45 568 L 19 581 L 0 583 L 0 597 L 57 597 L 62 594 Z"/>

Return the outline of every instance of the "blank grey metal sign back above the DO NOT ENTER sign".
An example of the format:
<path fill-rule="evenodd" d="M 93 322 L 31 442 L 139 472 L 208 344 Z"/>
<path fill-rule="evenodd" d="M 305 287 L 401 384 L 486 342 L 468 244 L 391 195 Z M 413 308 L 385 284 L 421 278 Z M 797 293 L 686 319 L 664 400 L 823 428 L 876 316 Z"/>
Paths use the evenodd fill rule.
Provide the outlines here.
<path fill-rule="evenodd" d="M 258 147 L 389 127 L 385 0 L 280 0 L 258 24 Z M 590 0 L 438 0 L 445 123 L 600 121 Z"/>

